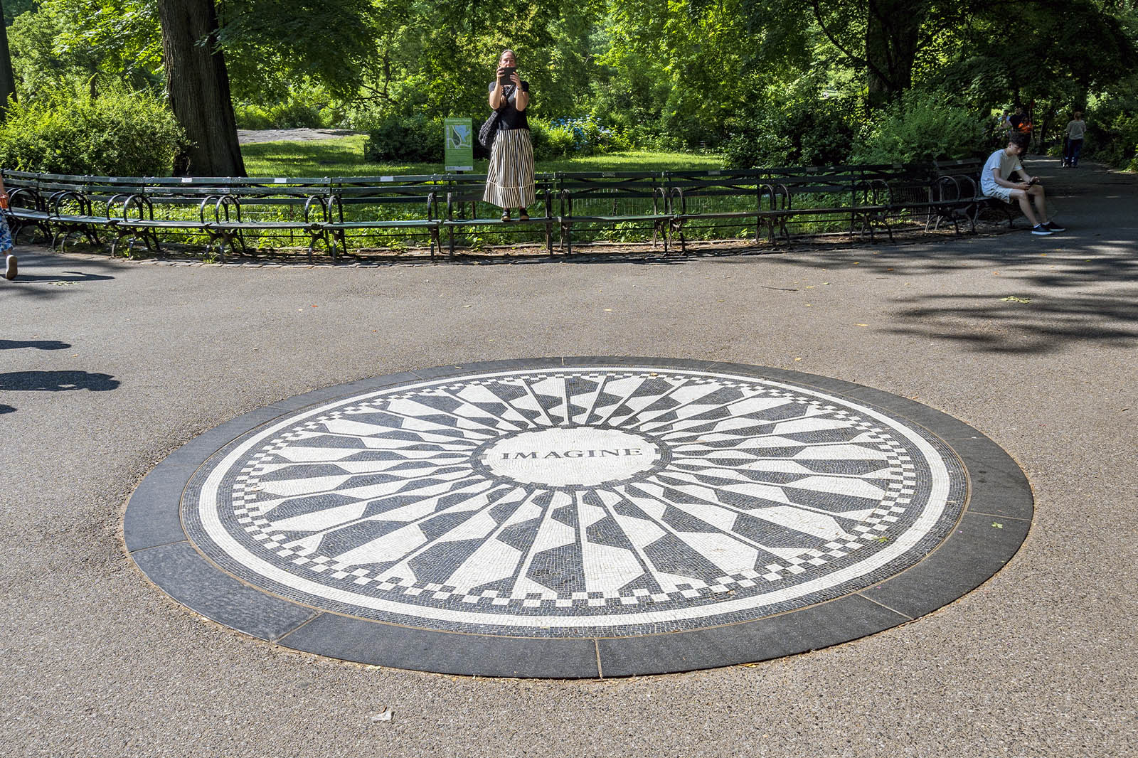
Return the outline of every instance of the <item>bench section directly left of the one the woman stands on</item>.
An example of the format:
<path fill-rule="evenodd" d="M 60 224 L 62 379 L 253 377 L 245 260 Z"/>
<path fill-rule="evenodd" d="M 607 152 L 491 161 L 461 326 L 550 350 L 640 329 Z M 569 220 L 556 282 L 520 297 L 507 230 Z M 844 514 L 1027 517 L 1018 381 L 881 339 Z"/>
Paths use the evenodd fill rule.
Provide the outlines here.
<path fill-rule="evenodd" d="M 385 237 L 399 230 L 427 233 L 434 259 L 435 250 L 440 247 L 440 187 L 437 174 L 332 179 L 325 199 L 328 217 L 319 226 L 328 236 L 332 261 L 337 259 L 337 247 L 347 253 L 349 231 Z"/>

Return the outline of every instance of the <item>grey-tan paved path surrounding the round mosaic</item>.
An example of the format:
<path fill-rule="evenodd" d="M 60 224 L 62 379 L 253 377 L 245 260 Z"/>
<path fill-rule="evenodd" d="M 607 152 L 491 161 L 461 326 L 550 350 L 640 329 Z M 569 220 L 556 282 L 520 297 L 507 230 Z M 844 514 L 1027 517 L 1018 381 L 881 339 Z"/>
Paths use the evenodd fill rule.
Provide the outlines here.
<path fill-rule="evenodd" d="M 1065 234 L 667 265 L 176 267 L 25 250 L 0 282 L 7 752 L 1133 755 L 1138 179 L 1037 166 Z M 124 555 L 134 485 L 242 412 L 417 366 L 603 354 L 917 398 L 1020 462 L 1031 534 L 989 583 L 906 626 L 592 683 L 274 649 L 173 603 Z M 387 707 L 393 720 L 370 719 Z"/>

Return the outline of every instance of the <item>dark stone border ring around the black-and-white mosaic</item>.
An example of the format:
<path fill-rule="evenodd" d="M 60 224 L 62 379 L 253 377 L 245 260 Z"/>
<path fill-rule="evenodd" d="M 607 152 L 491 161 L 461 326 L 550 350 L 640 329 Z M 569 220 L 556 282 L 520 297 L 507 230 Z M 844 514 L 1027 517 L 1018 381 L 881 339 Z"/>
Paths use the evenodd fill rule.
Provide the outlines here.
<path fill-rule="evenodd" d="M 918 563 L 880 584 L 795 611 L 726 626 L 604 638 L 455 634 L 341 616 L 244 584 L 204 558 L 182 530 L 182 492 L 193 472 L 233 439 L 339 397 L 471 372 L 621 365 L 721 371 L 802 385 L 872 405 L 924 427 L 964 463 L 970 496 L 956 529 Z M 178 602 L 269 642 L 332 658 L 442 674 L 588 678 L 638 676 L 744 664 L 827 648 L 930 613 L 1001 569 L 1034 512 L 1031 487 L 996 443 L 950 415 L 877 389 L 795 371 L 712 361 L 564 357 L 437 366 L 297 395 L 206 431 L 158 464 L 131 496 L 126 550 Z"/>

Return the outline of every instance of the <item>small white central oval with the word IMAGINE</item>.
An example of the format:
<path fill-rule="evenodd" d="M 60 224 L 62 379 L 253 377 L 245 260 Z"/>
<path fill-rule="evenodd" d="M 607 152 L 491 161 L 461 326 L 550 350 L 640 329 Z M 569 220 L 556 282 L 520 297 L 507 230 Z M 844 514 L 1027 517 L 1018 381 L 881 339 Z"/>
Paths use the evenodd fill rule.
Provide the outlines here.
<path fill-rule="evenodd" d="M 619 429 L 555 427 L 494 442 L 481 454 L 492 472 L 552 487 L 601 485 L 650 470 L 660 448 Z"/>

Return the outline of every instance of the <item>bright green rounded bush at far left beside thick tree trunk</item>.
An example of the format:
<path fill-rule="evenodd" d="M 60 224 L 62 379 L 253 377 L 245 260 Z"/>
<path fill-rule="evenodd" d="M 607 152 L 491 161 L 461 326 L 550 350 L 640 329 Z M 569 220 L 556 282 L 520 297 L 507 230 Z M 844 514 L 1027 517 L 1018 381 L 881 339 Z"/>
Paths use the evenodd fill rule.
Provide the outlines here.
<path fill-rule="evenodd" d="M 19 171 L 109 176 L 167 175 L 184 134 L 166 105 L 110 85 L 55 90 L 9 106 L 0 165 Z"/>

